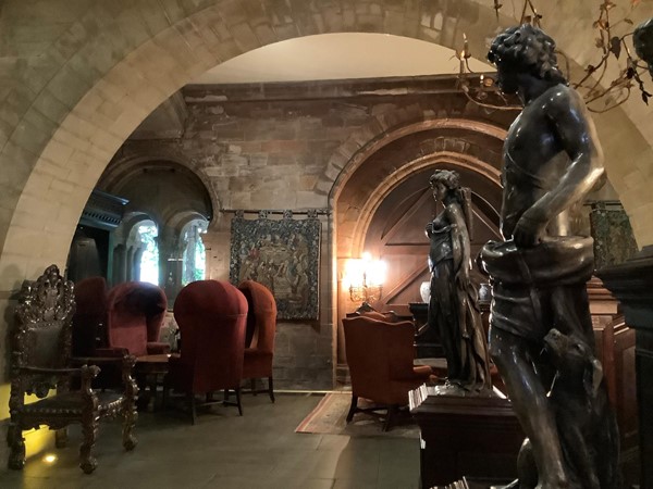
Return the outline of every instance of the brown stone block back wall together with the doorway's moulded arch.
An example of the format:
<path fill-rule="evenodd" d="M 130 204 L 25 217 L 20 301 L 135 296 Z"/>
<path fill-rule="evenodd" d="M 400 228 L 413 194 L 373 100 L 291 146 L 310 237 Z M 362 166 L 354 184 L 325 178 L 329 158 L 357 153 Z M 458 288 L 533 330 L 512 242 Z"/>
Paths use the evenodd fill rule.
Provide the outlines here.
<path fill-rule="evenodd" d="M 181 95 L 187 113 L 181 136 L 140 127 L 100 185 L 135 161 L 173 161 L 192 170 L 213 203 L 204 240 L 207 277 L 215 279 L 229 279 L 234 211 L 326 211 L 320 217 L 320 317 L 279 325 L 275 385 L 281 389 L 333 385 L 335 325 L 344 313 L 336 313 L 335 262 L 349 258 L 343 250 L 352 249 L 365 196 L 391 188 L 402 165 L 432 154 L 498 166 L 498 149 L 492 151 L 488 138 L 496 139 L 514 116 L 469 104 L 454 77 L 187 86 Z M 459 123 L 447 125 L 452 121 Z M 391 145 L 399 138 L 402 143 Z M 365 161 L 373 168 L 347 184 L 348 200 L 337 203 L 347 212 L 336 222 L 338 192 Z"/>

